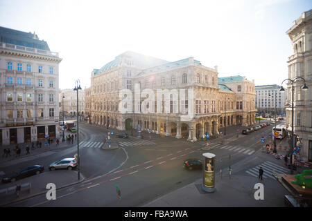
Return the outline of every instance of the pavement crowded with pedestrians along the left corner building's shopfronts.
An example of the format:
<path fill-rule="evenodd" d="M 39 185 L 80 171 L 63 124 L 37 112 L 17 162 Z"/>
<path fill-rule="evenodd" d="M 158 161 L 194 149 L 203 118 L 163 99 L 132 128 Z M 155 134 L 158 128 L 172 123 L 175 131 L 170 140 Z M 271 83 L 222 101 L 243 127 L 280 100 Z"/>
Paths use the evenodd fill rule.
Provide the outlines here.
<path fill-rule="evenodd" d="M 21 155 L 19 157 L 16 157 L 16 153 L 15 153 L 15 145 L 16 144 L 10 144 L 10 145 L 6 145 L 6 146 L 0 146 L 0 153 L 1 153 L 1 157 L 0 157 L 0 164 L 4 163 L 4 162 L 9 162 L 9 161 L 14 161 L 14 160 L 19 160 L 21 158 L 25 158 L 25 157 L 31 157 L 34 155 L 38 155 L 38 154 L 42 154 L 42 153 L 46 153 L 47 151 L 55 151 L 55 150 L 59 150 L 62 148 L 68 148 L 71 147 L 73 145 L 77 144 L 77 140 L 75 139 L 75 137 L 73 137 L 73 144 L 68 144 L 66 141 L 66 135 L 75 135 L 74 133 L 64 133 L 64 137 L 65 137 L 65 141 L 62 142 L 62 137 L 59 138 L 60 140 L 60 144 L 58 146 L 56 146 L 56 140 L 53 140 L 53 143 L 50 144 L 50 147 L 48 148 L 48 146 L 44 146 L 44 141 L 42 141 L 42 147 L 40 148 L 39 146 L 37 147 L 36 143 L 34 142 L 34 146 L 35 149 L 31 148 L 31 143 L 23 143 L 23 144 L 19 144 L 19 148 L 21 148 Z M 81 142 L 83 140 L 83 133 L 79 133 L 79 141 Z M 30 154 L 26 155 L 26 145 L 29 146 L 30 150 Z M 8 157 L 3 156 L 3 148 L 10 148 L 10 155 L 8 155 Z"/>

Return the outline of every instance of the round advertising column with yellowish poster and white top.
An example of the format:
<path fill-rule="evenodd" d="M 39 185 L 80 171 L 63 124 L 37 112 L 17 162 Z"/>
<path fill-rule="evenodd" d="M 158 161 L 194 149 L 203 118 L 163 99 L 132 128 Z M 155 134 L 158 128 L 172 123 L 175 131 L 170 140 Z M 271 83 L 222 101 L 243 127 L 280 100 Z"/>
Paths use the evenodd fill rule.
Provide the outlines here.
<path fill-rule="evenodd" d="M 202 190 L 208 193 L 213 193 L 216 189 L 214 187 L 214 169 L 215 169 L 215 157 L 213 153 L 203 153 L 203 182 L 202 182 Z"/>

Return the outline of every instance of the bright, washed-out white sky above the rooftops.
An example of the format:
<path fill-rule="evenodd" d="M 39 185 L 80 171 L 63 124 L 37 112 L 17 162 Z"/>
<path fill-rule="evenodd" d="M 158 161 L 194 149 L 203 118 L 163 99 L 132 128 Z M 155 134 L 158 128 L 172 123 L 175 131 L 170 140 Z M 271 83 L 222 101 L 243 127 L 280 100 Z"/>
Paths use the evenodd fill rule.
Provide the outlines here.
<path fill-rule="evenodd" d="M 254 84 L 288 78 L 286 31 L 306 0 L 0 0 L 0 26 L 35 32 L 62 58 L 60 88 L 90 86 L 94 68 L 132 50 L 167 61 L 194 57 L 218 77 Z"/>

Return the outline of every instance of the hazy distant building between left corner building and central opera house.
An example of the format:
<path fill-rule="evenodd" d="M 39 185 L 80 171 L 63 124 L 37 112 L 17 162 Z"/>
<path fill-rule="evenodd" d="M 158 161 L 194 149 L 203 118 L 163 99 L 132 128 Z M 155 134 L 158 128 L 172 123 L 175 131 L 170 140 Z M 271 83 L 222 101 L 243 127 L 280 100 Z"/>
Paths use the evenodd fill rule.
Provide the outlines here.
<path fill-rule="evenodd" d="M 60 90 L 60 116 L 62 116 L 62 97 L 64 96 L 64 116 L 77 116 L 77 92 L 73 89 Z M 78 102 L 79 116 L 83 118 L 85 114 L 85 90 L 79 90 L 79 102 Z"/>

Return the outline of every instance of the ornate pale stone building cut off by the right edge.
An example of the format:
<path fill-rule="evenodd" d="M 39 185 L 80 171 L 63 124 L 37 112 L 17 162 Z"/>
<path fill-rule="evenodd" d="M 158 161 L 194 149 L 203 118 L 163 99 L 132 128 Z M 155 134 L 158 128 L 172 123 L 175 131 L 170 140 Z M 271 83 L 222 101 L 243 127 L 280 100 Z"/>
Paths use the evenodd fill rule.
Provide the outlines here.
<path fill-rule="evenodd" d="M 302 160 L 312 162 L 312 10 L 303 12 L 286 32 L 290 37 L 293 55 L 288 57 L 288 78 L 303 77 L 308 90 L 302 90 L 304 81 L 297 79 L 294 83 L 294 133 L 301 143 Z M 291 134 L 292 84 L 287 82 L 286 128 Z"/>

